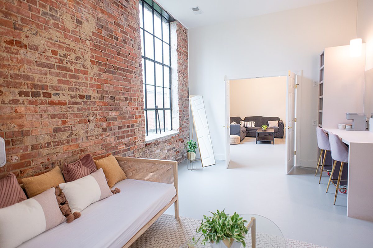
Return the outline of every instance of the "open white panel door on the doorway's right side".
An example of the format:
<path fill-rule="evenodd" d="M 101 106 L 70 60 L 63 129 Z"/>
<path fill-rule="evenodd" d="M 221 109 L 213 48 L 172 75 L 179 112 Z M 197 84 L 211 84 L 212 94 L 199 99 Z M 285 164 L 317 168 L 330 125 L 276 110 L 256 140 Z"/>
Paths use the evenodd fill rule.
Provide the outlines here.
<path fill-rule="evenodd" d="M 285 166 L 286 174 L 295 164 L 295 74 L 289 70 L 286 81 Z"/>

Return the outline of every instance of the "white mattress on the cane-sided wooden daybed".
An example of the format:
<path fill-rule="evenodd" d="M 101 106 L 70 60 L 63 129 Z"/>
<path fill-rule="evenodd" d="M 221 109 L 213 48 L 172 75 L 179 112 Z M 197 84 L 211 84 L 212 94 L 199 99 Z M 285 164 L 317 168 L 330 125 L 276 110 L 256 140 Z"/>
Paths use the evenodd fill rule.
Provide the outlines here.
<path fill-rule="evenodd" d="M 85 208 L 79 219 L 62 223 L 35 238 L 25 247 L 122 247 L 176 195 L 173 185 L 125 179 L 113 188 L 120 193 Z M 65 237 L 63 242 L 56 242 Z"/>

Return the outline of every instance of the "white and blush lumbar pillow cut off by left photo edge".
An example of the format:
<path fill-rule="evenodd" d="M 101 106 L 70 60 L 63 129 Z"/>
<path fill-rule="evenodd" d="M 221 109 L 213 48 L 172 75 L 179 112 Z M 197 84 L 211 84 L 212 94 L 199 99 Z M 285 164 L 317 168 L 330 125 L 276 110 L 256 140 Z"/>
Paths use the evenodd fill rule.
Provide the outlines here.
<path fill-rule="evenodd" d="M 17 247 L 65 222 L 54 192 L 55 189 L 50 188 L 21 203 L 0 208 L 1 248 Z"/>

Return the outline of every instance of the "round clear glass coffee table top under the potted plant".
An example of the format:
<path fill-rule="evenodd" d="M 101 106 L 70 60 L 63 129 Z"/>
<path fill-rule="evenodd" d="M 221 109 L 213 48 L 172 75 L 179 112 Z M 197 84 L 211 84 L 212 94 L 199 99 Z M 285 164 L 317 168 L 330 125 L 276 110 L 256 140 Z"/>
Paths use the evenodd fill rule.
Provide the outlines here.
<path fill-rule="evenodd" d="M 240 214 L 239 216 L 250 222 L 251 218 L 255 218 L 256 222 L 256 238 L 255 248 L 287 248 L 285 238 L 282 235 L 279 227 L 270 219 L 260 216 L 257 214 Z M 211 247 L 211 244 L 203 245 L 200 241 L 201 234 L 196 233 L 194 237 L 190 237 L 189 240 L 181 246 L 181 248 L 207 248 Z M 245 236 L 246 248 L 254 248 L 251 244 L 251 230 Z M 193 238 L 196 242 L 193 241 Z M 202 240 L 201 238 L 200 240 Z M 242 247 L 242 245 L 241 245 Z"/>

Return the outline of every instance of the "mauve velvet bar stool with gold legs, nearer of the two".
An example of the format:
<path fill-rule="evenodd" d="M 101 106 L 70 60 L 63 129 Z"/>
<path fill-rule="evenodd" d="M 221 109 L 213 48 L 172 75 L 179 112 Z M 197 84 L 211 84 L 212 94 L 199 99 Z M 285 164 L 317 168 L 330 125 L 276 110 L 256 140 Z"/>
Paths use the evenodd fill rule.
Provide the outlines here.
<path fill-rule="evenodd" d="M 340 189 L 339 185 L 341 183 L 343 165 L 347 164 L 348 166 L 348 147 L 345 143 L 342 142 L 342 139 L 338 135 L 332 134 L 330 132 L 329 132 L 329 142 L 330 142 L 330 152 L 332 153 L 332 158 L 334 160 L 334 163 L 332 167 L 332 173 L 330 174 L 329 182 L 327 184 L 326 192 L 329 189 L 330 182 L 332 182 L 336 187 L 334 203 L 333 203 L 335 205 L 335 200 L 337 199 L 338 190 Z M 336 179 L 333 179 L 333 173 L 334 173 L 335 168 L 337 167 L 337 161 L 341 162 L 341 166 L 339 166 L 338 179 L 337 179 L 337 183 L 335 184 L 333 180 L 336 180 Z M 348 169 L 348 168 L 345 167 L 345 169 Z M 345 172 L 347 171 L 348 170 L 345 170 Z M 347 182 L 347 180 L 343 180 L 343 181 Z M 341 189 L 347 190 L 347 188 L 341 188 Z"/>

